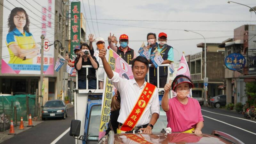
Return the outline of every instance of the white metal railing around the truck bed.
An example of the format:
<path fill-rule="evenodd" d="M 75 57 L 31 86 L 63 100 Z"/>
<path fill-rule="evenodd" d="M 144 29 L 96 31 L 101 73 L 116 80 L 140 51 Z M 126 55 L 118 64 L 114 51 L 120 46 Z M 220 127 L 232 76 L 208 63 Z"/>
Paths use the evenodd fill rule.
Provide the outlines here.
<path fill-rule="evenodd" d="M 132 65 L 129 65 L 132 67 Z M 151 64 L 149 64 L 149 67 Z M 168 74 L 167 74 L 167 83 L 169 82 L 170 79 L 170 64 L 161 64 L 159 67 L 167 67 Z M 157 67 L 157 88 L 159 88 L 159 67 Z M 88 90 L 88 68 L 92 68 L 92 66 L 82 66 L 82 68 L 86 68 L 86 90 Z M 103 65 L 100 65 L 99 68 L 103 68 Z M 99 73 L 98 70 L 96 69 L 96 90 L 99 90 Z M 149 82 L 149 71 L 148 71 L 148 82 Z M 76 89 L 78 89 L 78 71 L 76 71 Z M 93 89 L 94 90 L 94 89 Z"/>

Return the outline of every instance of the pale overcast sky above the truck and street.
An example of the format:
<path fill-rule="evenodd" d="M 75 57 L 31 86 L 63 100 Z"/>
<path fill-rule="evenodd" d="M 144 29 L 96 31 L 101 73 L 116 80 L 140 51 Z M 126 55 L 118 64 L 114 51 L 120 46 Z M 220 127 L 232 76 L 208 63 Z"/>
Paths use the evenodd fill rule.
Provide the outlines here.
<path fill-rule="evenodd" d="M 87 35 L 92 33 L 94 36 L 99 37 L 100 33 L 100 37 L 107 40 L 109 32 L 115 34 L 117 39 L 119 39 L 121 34 L 126 34 L 129 36 L 128 46 L 136 52 L 143 41 L 145 43 L 147 42 L 146 36 L 149 32 L 156 33 L 157 36 L 160 32 L 165 32 L 169 40 L 167 44 L 175 49 L 174 60 L 177 62 L 180 60 L 182 51 L 185 52 L 185 55 L 201 52 L 202 49 L 197 48 L 196 44 L 204 42 L 202 36 L 192 32 L 186 32 L 184 29 L 194 30 L 202 34 L 206 38 L 206 43 L 221 43 L 229 37 L 233 37 L 233 30 L 235 28 L 244 24 L 256 24 L 256 15 L 254 12 L 249 12 L 248 7 L 235 3 L 228 4 L 227 1 L 228 0 L 95 0 L 99 31 L 96 20 L 90 20 L 91 15 L 92 19 L 96 19 L 94 0 L 89 0 L 91 15 L 88 0 L 83 0 L 84 7 L 81 1 L 81 12 L 84 12 L 85 8 L 88 24 L 86 25 Z M 256 6 L 255 0 L 235 0 L 235 2 L 251 7 Z M 116 19 L 175 21 L 243 20 L 244 22 L 159 22 L 117 21 Z M 96 47 L 95 44 L 93 45 Z"/>

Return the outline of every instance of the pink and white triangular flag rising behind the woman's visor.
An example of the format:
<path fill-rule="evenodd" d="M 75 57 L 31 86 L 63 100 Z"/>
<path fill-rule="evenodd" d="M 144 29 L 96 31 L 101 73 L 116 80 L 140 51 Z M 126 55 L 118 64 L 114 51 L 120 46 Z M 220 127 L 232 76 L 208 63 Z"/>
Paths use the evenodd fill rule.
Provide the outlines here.
<path fill-rule="evenodd" d="M 178 76 L 178 75 L 184 75 L 184 76 L 188 76 L 190 78 L 188 63 L 187 63 L 184 53 L 182 54 L 181 59 L 180 59 L 180 64 L 179 64 L 179 68 L 177 70 L 176 76 Z"/>

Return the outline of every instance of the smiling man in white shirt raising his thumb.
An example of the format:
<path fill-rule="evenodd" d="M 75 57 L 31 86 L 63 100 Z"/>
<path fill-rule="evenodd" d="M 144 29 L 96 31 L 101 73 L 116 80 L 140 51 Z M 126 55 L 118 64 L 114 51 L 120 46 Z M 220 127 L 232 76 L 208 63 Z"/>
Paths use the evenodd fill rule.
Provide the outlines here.
<path fill-rule="evenodd" d="M 111 70 L 108 61 L 105 58 L 105 55 L 106 49 L 101 49 L 99 52 L 99 57 L 102 60 L 105 72 L 107 73 L 110 81 L 112 81 L 113 85 L 120 92 L 121 96 L 121 108 L 119 112 L 119 117 L 117 119 L 120 128 L 122 125 L 125 125 L 127 119 L 130 118 L 131 115 L 129 114 L 131 114 L 134 108 L 137 106 L 137 100 L 141 99 L 141 95 L 142 93 L 144 93 L 144 89 L 148 88 L 145 88 L 145 86 L 148 84 L 144 78 L 148 72 L 149 62 L 146 58 L 141 56 L 132 60 L 132 73 L 134 79 L 127 80 L 125 78 L 119 77 L 118 73 Z M 143 130 L 144 133 L 152 132 L 153 125 L 156 123 L 160 113 L 158 90 L 156 86 L 150 86 L 154 87 L 152 92 L 149 91 L 149 93 L 151 93 L 151 97 L 147 102 L 146 107 L 144 106 L 144 111 L 140 113 L 140 118 L 137 119 L 136 125 L 134 125 L 135 127 L 133 128 Z M 141 103 L 139 104 L 139 102 L 138 105 L 140 106 Z"/>

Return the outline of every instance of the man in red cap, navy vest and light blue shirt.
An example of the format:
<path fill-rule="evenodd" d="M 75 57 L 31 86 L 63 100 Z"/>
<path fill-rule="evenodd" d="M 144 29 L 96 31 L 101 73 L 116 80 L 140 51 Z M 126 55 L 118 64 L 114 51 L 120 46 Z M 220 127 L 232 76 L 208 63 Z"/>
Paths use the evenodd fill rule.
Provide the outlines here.
<path fill-rule="evenodd" d="M 162 64 L 170 64 L 173 62 L 173 48 L 172 46 L 166 44 L 167 41 L 167 34 L 161 32 L 158 35 L 158 42 L 159 44 L 156 44 L 152 46 L 151 52 L 158 51 L 164 61 Z M 150 54 L 149 53 L 149 54 Z M 151 60 L 149 60 L 149 63 L 151 64 L 151 68 L 149 68 L 149 83 L 157 85 L 157 69 L 155 68 L 154 64 Z M 164 87 L 167 81 L 167 75 L 168 75 L 168 68 L 167 67 L 159 67 L 159 87 Z"/>

